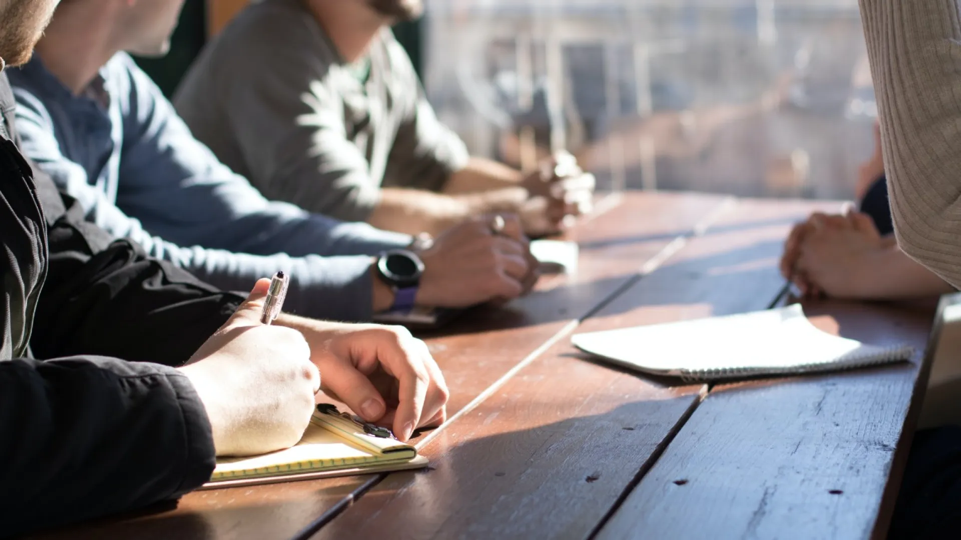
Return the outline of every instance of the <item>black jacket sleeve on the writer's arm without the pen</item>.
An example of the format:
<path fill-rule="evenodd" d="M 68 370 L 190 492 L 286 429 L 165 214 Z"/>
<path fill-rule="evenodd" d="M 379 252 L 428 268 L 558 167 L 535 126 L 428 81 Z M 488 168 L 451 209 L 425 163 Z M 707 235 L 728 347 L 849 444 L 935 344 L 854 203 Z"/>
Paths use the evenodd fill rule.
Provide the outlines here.
<path fill-rule="evenodd" d="M 35 179 L 50 253 L 30 343 L 38 358 L 92 354 L 181 365 L 243 301 L 130 241 L 114 241 L 49 177 L 37 172 Z"/>

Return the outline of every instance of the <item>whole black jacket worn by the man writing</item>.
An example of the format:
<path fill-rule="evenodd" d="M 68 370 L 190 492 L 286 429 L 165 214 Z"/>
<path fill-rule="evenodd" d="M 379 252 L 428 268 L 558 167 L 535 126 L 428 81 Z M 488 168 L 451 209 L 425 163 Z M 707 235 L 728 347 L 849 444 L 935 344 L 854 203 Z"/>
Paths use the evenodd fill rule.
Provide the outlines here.
<path fill-rule="evenodd" d="M 6 138 L 11 103 L 0 73 L 0 536 L 209 479 L 204 405 L 160 363 L 183 363 L 241 300 L 87 224 Z M 89 356 L 27 359 L 28 343 L 35 356 Z"/>

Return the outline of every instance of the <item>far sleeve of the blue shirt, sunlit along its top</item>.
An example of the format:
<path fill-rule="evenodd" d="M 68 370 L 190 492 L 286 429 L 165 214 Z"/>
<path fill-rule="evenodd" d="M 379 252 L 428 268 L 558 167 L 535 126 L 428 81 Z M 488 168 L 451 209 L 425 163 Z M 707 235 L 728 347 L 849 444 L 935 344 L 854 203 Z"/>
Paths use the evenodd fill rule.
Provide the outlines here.
<path fill-rule="evenodd" d="M 131 67 L 117 205 L 182 245 L 258 255 L 375 255 L 406 234 L 267 201 L 195 139 L 150 78 Z M 149 222 L 146 221 L 149 216 Z"/>

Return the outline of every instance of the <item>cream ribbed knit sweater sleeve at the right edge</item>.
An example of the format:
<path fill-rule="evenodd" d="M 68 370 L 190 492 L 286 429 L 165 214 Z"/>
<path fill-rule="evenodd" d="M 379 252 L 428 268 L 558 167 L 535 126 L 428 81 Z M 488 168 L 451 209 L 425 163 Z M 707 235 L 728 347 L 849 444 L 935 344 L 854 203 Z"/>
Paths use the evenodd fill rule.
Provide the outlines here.
<path fill-rule="evenodd" d="M 901 249 L 961 287 L 959 0 L 860 0 Z"/>

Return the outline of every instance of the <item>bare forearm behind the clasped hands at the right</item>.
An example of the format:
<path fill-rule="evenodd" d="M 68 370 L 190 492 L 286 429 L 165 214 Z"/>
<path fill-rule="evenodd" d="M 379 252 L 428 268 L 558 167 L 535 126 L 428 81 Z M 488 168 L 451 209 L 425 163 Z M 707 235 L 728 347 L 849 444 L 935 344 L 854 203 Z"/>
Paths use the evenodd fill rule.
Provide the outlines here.
<path fill-rule="evenodd" d="M 865 260 L 857 298 L 860 300 L 915 300 L 954 292 L 948 282 L 894 246 Z"/>

